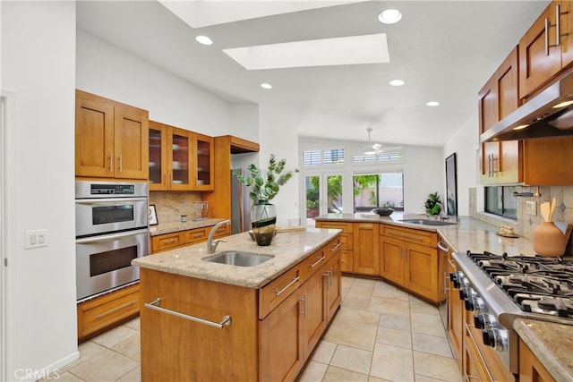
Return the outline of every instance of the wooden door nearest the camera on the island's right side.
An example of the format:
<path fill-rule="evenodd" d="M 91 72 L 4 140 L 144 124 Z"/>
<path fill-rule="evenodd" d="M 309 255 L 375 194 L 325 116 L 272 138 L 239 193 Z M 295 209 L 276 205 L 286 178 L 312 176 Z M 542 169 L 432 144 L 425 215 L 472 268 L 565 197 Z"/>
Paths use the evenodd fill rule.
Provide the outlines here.
<path fill-rule="evenodd" d="M 293 293 L 259 321 L 261 381 L 295 380 L 304 365 L 304 301 Z"/>

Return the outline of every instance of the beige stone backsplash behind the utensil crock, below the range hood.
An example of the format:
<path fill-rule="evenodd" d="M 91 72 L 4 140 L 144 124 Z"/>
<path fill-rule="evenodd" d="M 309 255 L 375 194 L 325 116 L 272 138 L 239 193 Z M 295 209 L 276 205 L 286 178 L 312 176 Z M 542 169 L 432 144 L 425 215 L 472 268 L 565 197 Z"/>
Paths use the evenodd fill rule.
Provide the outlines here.
<path fill-rule="evenodd" d="M 535 194 L 537 192 L 537 186 L 517 186 L 517 192 L 532 192 Z M 549 201 L 551 202 L 553 197 L 557 202 L 557 208 L 553 213 L 552 221 L 557 223 L 567 223 L 573 225 L 573 186 L 540 186 L 539 193 L 541 193 L 540 198 L 535 197 L 519 197 L 517 198 L 517 221 L 500 216 L 495 216 L 492 214 L 486 214 L 477 211 L 477 200 L 476 200 L 476 189 L 469 189 L 469 214 L 479 220 L 483 220 L 491 225 L 511 225 L 513 226 L 515 232 L 527 239 L 533 238 L 534 229 L 539 223 L 543 221 L 543 217 L 540 213 L 539 206 Z M 536 214 L 528 215 L 526 213 L 526 201 L 535 200 L 536 201 Z M 569 240 L 568 252 L 571 253 L 571 242 Z"/>

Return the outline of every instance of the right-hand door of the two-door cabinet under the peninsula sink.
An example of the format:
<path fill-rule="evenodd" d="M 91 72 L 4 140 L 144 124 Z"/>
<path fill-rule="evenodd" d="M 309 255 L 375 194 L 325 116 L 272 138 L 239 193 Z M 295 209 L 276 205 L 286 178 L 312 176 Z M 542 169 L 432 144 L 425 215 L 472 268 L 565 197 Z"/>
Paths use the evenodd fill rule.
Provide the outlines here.
<path fill-rule="evenodd" d="M 414 243 L 406 244 L 406 287 L 437 301 L 438 250 Z"/>

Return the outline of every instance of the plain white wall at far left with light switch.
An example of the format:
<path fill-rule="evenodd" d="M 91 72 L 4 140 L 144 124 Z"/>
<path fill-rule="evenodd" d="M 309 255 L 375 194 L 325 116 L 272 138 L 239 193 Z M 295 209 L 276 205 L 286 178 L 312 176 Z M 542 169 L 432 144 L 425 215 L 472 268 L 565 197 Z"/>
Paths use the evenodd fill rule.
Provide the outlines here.
<path fill-rule="evenodd" d="M 2 88 L 16 95 L 16 252 L 8 254 L 11 380 L 78 357 L 75 298 L 75 3 L 2 2 Z M 10 216 L 8 216 L 10 218 Z M 24 231 L 48 245 L 24 250 Z M 16 373 L 16 374 L 14 374 Z M 31 375 L 26 379 L 30 379 Z"/>

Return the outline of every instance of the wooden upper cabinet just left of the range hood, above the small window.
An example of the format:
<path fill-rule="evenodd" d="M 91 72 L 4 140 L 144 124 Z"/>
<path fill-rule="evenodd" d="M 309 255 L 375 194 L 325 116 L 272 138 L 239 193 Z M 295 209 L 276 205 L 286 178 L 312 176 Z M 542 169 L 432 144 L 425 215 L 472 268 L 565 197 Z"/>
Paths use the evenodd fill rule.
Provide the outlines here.
<path fill-rule="evenodd" d="M 480 134 L 517 109 L 517 78 L 516 47 L 478 93 Z M 521 141 L 517 140 L 483 143 L 479 160 L 480 183 L 521 182 L 523 180 L 521 144 Z"/>

